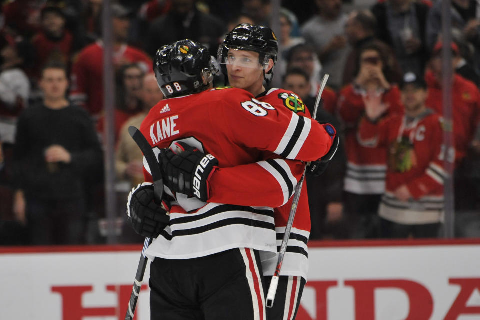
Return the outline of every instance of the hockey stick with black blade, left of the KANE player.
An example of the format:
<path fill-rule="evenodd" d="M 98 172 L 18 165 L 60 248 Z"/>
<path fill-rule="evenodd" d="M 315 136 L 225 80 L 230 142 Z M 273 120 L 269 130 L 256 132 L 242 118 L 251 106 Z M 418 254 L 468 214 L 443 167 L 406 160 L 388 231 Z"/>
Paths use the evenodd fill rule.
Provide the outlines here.
<path fill-rule="evenodd" d="M 131 137 L 145 156 L 146 162 L 150 167 L 151 177 L 153 179 L 153 194 L 155 197 L 155 202 L 161 203 L 163 179 L 161 177 L 160 166 L 155 158 L 155 153 L 153 153 L 150 143 L 148 143 L 146 138 L 136 127 L 128 127 L 128 133 L 130 133 Z M 128 310 L 126 311 L 125 320 L 133 319 L 136 302 L 138 301 L 138 295 L 140 294 L 141 284 L 143 281 L 143 275 L 145 274 L 146 263 L 148 262 L 148 258 L 145 256 L 145 250 L 151 244 L 152 240 L 152 238 L 145 238 L 145 242 L 143 242 L 143 249 L 141 250 L 140 262 L 138 262 L 138 268 L 136 269 L 135 282 L 133 283 L 130 300 L 128 301 Z"/>

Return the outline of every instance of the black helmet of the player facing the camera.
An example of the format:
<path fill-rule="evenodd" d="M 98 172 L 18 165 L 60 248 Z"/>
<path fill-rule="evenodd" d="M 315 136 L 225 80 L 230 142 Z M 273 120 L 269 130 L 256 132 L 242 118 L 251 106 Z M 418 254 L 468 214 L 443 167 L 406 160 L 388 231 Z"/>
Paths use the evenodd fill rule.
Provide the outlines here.
<path fill-rule="evenodd" d="M 278 39 L 267 26 L 242 23 L 235 26 L 218 47 L 218 61 L 223 61 L 229 49 L 258 52 L 261 65 L 267 64 L 270 58 L 276 63 Z"/>

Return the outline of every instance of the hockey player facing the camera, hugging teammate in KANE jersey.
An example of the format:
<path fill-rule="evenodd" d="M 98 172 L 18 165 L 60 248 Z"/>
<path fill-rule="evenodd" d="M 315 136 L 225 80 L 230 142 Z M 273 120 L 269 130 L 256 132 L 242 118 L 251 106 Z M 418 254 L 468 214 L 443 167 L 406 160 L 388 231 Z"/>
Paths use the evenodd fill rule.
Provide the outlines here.
<path fill-rule="evenodd" d="M 309 117 L 308 110 L 295 93 L 277 88 L 268 91 L 265 89 L 263 80 L 271 79 L 276 55 L 276 37 L 271 29 L 250 24 L 235 27 L 227 34 L 218 50 L 218 60 L 226 65 L 231 85 L 249 91 L 261 103 L 281 105 L 287 111 Z M 290 141 L 302 140 L 300 131 L 294 133 L 291 130 L 291 134 L 293 138 Z M 284 160 L 278 156 L 273 159 L 273 155 L 271 152 L 264 152 L 265 160 L 256 164 L 222 168 L 213 172 L 208 179 L 207 201 L 275 206 L 275 227 L 279 247 L 291 209 L 290 196 L 295 186 L 284 176 L 288 172 L 298 180 L 303 173 L 304 164 L 299 161 Z M 287 153 L 280 155 L 287 157 Z M 175 161 L 180 161 L 183 156 L 186 154 L 179 154 L 175 157 Z M 163 159 L 164 164 L 169 161 L 172 162 L 167 158 Z M 325 163 L 321 163 L 322 167 L 324 165 Z M 180 168 L 176 166 L 176 169 Z M 307 193 L 302 192 L 283 260 L 282 276 L 280 276 L 275 303 L 273 308 L 267 309 L 268 319 L 293 319 L 297 312 L 308 271 L 309 231 L 308 198 Z M 276 262 L 276 258 L 262 261 L 267 286 L 275 271 Z"/>

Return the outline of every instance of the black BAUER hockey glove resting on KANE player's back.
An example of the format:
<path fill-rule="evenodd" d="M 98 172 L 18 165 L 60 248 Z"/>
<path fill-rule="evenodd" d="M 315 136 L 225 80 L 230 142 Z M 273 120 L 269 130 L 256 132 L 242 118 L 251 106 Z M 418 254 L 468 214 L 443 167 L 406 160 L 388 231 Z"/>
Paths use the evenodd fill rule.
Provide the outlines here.
<path fill-rule="evenodd" d="M 209 197 L 208 178 L 218 168 L 218 160 L 184 142 L 176 142 L 175 149 L 162 149 L 159 155 L 165 185 L 173 192 L 205 202 Z"/>

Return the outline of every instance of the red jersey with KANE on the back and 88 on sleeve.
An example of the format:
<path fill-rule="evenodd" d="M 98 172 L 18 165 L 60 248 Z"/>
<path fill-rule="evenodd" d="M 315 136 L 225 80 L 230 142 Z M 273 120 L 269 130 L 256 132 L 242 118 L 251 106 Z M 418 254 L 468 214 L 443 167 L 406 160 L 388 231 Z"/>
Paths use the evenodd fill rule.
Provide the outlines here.
<path fill-rule="evenodd" d="M 316 160 L 331 146 L 330 136 L 322 125 L 298 116 L 278 102 L 274 105 L 261 101 L 237 88 L 217 88 L 162 100 L 150 110 L 140 130 L 156 147 L 155 152 L 176 141 L 184 141 L 213 154 L 219 161 L 219 172 L 222 168 L 258 162 L 266 153 L 290 160 Z M 146 254 L 183 259 L 250 247 L 263 252 L 263 260 L 274 257 L 277 252 L 275 219 L 273 208 L 265 203 L 275 202 L 277 197 L 261 202 L 247 198 L 244 205 L 236 204 L 243 201 L 245 193 L 230 192 L 229 188 L 246 190 L 258 183 L 263 185 L 260 178 L 266 175 L 270 181 L 282 184 L 276 189 L 280 190 L 282 199 L 286 186 L 289 198 L 301 168 L 284 161 L 270 158 L 265 161 L 270 171 L 257 165 L 262 175 L 247 171 L 245 179 L 230 180 L 224 190 L 230 198 L 225 196 L 222 202 L 205 203 L 165 188 L 174 199 L 170 226 L 155 239 Z M 145 178 L 151 181 L 145 161 L 144 165 Z M 228 199 L 231 201 L 226 201 Z"/>

